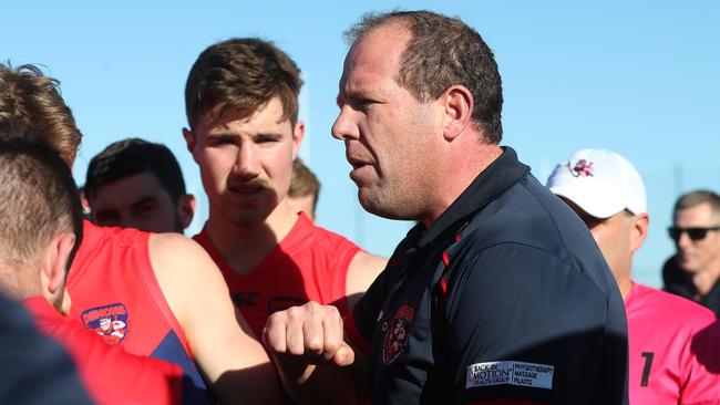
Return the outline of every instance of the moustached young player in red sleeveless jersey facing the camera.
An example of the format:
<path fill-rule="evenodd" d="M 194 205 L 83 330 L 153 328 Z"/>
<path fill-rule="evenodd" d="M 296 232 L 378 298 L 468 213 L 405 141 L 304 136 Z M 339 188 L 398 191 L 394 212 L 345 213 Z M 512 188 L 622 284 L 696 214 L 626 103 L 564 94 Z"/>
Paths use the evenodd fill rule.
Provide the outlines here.
<path fill-rule="evenodd" d="M 258 335 L 270 313 L 309 300 L 347 312 L 385 262 L 288 202 L 305 135 L 301 85 L 285 52 L 246 38 L 203 51 L 185 87 L 189 129 L 183 134 L 209 199 L 209 218 L 195 239 Z"/>

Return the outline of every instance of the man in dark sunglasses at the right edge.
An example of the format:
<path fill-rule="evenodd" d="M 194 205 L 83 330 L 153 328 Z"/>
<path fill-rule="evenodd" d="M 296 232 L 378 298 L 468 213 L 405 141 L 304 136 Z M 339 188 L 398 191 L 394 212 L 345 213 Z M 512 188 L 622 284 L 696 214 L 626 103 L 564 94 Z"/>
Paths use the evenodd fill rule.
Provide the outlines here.
<path fill-rule="evenodd" d="M 665 290 L 720 314 L 720 196 L 710 190 L 685 194 L 675 202 L 668 229 L 676 255 L 662 267 Z"/>

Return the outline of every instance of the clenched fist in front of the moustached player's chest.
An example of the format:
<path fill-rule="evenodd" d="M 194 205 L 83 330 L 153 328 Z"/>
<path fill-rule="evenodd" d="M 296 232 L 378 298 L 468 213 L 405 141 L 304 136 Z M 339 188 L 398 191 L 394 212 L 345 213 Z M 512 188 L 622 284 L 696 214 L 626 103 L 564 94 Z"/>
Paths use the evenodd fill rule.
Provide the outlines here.
<path fill-rule="evenodd" d="M 313 301 L 271 314 L 265 325 L 263 340 L 276 357 L 339 366 L 354 361 L 354 352 L 343 339 L 342 316 L 338 309 Z"/>

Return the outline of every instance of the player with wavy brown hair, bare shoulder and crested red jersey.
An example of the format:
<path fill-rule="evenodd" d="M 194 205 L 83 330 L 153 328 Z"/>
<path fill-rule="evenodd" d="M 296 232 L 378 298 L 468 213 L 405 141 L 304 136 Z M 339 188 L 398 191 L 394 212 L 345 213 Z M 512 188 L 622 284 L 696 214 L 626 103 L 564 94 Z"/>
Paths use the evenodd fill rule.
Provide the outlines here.
<path fill-rule="evenodd" d="M 0 137 L 17 133 L 41 134 L 69 167 L 82 138 L 55 80 L 0 65 Z M 206 378 L 223 402 L 281 401 L 267 354 L 197 243 L 89 221 L 83 233 L 66 282 L 70 316 L 130 353 L 181 365 L 199 388 Z"/>

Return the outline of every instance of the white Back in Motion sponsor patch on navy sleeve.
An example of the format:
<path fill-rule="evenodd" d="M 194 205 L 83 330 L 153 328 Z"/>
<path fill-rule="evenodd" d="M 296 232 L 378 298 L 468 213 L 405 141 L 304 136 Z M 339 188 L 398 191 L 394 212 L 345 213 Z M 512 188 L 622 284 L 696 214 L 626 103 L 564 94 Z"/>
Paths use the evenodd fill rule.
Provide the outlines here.
<path fill-rule="evenodd" d="M 555 367 L 546 364 L 498 361 L 467 366 L 465 388 L 485 385 L 518 385 L 553 390 Z"/>

